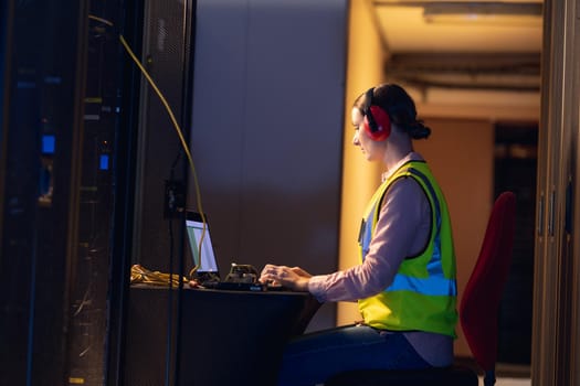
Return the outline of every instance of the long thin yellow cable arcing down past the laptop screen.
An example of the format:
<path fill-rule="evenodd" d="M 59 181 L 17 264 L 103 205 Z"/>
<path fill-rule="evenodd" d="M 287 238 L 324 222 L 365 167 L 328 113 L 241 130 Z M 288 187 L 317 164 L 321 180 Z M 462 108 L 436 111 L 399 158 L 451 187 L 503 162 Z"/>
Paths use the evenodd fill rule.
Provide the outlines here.
<path fill-rule="evenodd" d="M 88 19 L 93 19 L 95 21 L 102 22 L 102 23 L 110 25 L 110 26 L 114 25 L 110 21 L 102 19 L 102 18 L 98 18 L 98 17 L 95 17 L 93 14 L 89 14 Z M 207 232 L 207 228 L 208 228 L 208 225 L 205 223 L 205 214 L 204 214 L 203 207 L 201 205 L 201 190 L 199 187 L 198 173 L 196 171 L 196 165 L 193 163 L 193 159 L 191 158 L 191 153 L 189 151 L 189 148 L 188 148 L 188 144 L 186 142 L 186 139 L 183 138 L 182 130 L 179 127 L 179 124 L 178 124 L 178 121 L 176 119 L 173 110 L 171 109 L 171 106 L 169 106 L 169 103 L 164 97 L 164 94 L 159 90 L 159 87 L 157 87 L 157 84 L 151 78 L 151 76 L 149 75 L 147 69 L 145 69 L 143 64 L 139 62 L 139 60 L 137 58 L 137 56 L 135 55 L 135 53 L 130 49 L 129 44 L 127 43 L 127 41 L 125 40 L 125 37 L 122 34 L 119 34 L 119 41 L 123 44 L 123 46 L 125 47 L 125 50 L 127 51 L 127 53 L 129 54 L 129 56 L 133 60 L 133 62 L 135 62 L 135 64 L 139 67 L 139 69 L 141 71 L 141 73 L 145 76 L 145 78 L 147 79 L 147 82 L 149 82 L 149 85 L 152 87 L 152 89 L 155 90 L 155 93 L 157 94 L 159 99 L 161 100 L 161 104 L 166 108 L 167 114 L 169 115 L 169 118 L 171 120 L 171 124 L 173 124 L 173 128 L 176 129 L 177 136 L 179 137 L 179 141 L 181 143 L 181 147 L 183 148 L 183 151 L 186 152 L 186 156 L 188 158 L 189 167 L 191 168 L 191 173 L 193 175 L 193 185 L 196 187 L 196 200 L 197 200 L 198 208 L 199 208 L 199 212 L 200 212 L 200 215 L 201 215 L 201 222 L 203 224 L 203 229 L 201 232 L 201 237 L 200 237 L 199 247 L 198 247 L 199 261 L 196 265 L 196 267 L 193 267 L 193 269 L 191 269 L 191 271 L 190 271 L 190 276 L 191 276 L 193 272 L 196 272 L 199 269 L 199 267 L 201 265 L 201 246 L 202 246 L 203 239 L 205 238 L 205 232 Z"/>

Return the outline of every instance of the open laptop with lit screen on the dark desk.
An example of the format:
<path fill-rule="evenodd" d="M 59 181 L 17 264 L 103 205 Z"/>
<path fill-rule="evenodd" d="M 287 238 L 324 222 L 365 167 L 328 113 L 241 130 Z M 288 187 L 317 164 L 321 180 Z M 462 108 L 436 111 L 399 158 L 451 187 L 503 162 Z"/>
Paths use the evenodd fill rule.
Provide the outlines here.
<path fill-rule="evenodd" d="M 232 268 L 225 280 L 221 279 L 215 250 L 213 249 L 213 244 L 211 240 L 208 217 L 205 215 L 203 217 L 205 219 L 205 224 L 203 224 L 204 222 L 200 213 L 192 211 L 186 212 L 188 247 L 193 260 L 193 267 L 198 267 L 194 275 L 194 278 L 198 280 L 198 282 L 202 287 L 211 289 L 242 291 L 265 290 L 266 286 L 257 281 L 257 272 L 251 266 L 239 266 L 232 264 Z M 204 226 L 205 233 L 203 233 Z M 252 270 L 252 272 L 250 270 Z"/>

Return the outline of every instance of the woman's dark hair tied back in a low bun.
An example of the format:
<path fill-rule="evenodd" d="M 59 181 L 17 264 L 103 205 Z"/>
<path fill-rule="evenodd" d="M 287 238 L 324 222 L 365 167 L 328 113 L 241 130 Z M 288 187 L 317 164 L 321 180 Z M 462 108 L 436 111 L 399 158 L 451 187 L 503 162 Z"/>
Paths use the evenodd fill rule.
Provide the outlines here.
<path fill-rule="evenodd" d="M 391 122 L 407 131 L 413 139 L 428 138 L 431 129 L 416 119 L 416 109 L 413 99 L 407 92 L 396 84 L 381 84 L 375 87 L 371 100 L 367 100 L 367 93 L 361 94 L 354 107 L 366 115 L 366 107 L 378 106 L 389 115 Z"/>

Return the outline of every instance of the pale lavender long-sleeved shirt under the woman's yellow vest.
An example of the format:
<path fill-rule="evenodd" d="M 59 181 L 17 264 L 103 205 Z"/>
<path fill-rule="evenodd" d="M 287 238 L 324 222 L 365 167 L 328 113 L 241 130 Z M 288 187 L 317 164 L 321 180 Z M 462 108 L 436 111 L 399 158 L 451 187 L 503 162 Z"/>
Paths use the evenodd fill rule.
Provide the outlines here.
<path fill-rule="evenodd" d="M 422 158 L 409 153 L 383 178 L 411 160 Z M 430 226 L 431 207 L 422 187 L 412 178 L 399 179 L 384 196 L 365 261 L 344 271 L 312 277 L 308 291 L 320 302 L 356 301 L 379 293 L 392 282 L 407 256 L 423 250 Z M 453 362 L 451 336 L 422 331 L 405 332 L 404 335 L 430 364 L 446 366 Z"/>

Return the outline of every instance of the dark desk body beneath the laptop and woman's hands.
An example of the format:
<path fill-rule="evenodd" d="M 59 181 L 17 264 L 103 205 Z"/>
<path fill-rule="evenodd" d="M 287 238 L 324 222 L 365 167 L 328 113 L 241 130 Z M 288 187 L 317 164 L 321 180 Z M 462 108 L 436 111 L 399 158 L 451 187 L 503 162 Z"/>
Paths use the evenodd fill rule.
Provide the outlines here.
<path fill-rule="evenodd" d="M 177 336 L 178 294 L 130 288 L 125 385 L 173 385 L 177 373 L 180 386 L 273 386 L 287 340 L 319 307 L 304 292 L 183 289 Z"/>

